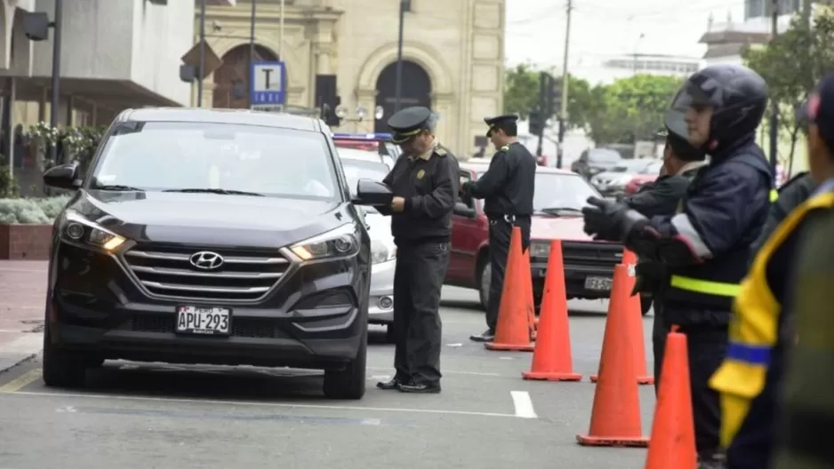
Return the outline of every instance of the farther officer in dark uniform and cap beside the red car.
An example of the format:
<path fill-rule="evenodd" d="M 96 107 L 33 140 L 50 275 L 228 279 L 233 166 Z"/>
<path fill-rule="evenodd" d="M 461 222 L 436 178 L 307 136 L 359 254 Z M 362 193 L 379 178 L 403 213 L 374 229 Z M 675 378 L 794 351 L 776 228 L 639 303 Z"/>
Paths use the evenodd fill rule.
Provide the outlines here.
<path fill-rule="evenodd" d="M 522 250 L 530 246 L 536 160 L 517 139 L 517 120 L 517 115 L 484 119 L 489 125 L 486 137 L 492 140 L 498 152 L 493 155 L 489 169 L 480 179 L 466 182 L 461 187 L 465 197 L 485 199 L 484 212 L 489 219 L 489 263 L 492 276 L 486 303 L 487 330 L 469 337 L 476 342 L 491 342 L 495 338 L 513 227 L 521 228 Z"/>

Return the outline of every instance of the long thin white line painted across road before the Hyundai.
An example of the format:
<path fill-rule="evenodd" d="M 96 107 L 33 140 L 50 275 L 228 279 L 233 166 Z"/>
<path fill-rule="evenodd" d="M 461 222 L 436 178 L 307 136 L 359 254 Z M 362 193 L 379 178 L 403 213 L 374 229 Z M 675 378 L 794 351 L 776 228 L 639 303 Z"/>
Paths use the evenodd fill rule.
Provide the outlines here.
<path fill-rule="evenodd" d="M 257 402 L 257 401 L 220 401 L 216 399 L 188 399 L 174 397 L 148 397 L 148 396 L 126 396 L 108 394 L 84 394 L 84 393 L 33 393 L 30 391 L 18 391 L 8 393 L 7 396 L 36 396 L 48 398 L 77 398 L 77 399 L 110 399 L 114 401 L 149 401 L 149 402 L 187 402 L 192 404 L 220 404 L 231 406 L 249 407 L 273 407 L 285 409 L 330 409 L 330 410 L 361 410 L 364 412 L 397 412 L 406 414 L 435 414 L 435 415 L 459 415 L 469 417 L 512 417 L 514 414 L 501 414 L 497 412 L 471 412 L 466 410 L 444 410 L 444 409 L 407 409 L 393 407 L 361 407 L 361 406 L 339 406 L 339 405 L 318 405 L 318 404 L 285 404 L 280 402 Z M 531 417 L 522 417 L 531 418 Z"/>

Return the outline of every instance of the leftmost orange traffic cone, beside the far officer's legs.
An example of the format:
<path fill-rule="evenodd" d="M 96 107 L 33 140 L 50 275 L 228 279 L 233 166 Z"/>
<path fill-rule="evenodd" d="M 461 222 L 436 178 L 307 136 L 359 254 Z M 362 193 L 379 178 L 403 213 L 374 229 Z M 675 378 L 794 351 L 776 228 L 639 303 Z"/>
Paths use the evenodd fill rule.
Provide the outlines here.
<path fill-rule="evenodd" d="M 525 278 L 530 279 L 530 268 L 527 267 L 525 271 L 524 258 L 521 252 L 521 228 L 513 227 L 512 237 L 509 239 L 507 270 L 504 273 L 495 338 L 493 342 L 484 344 L 488 350 L 533 352 L 533 345 L 530 343 L 533 281 L 525 281 Z M 525 291 L 527 285 L 531 286 L 530 295 Z"/>

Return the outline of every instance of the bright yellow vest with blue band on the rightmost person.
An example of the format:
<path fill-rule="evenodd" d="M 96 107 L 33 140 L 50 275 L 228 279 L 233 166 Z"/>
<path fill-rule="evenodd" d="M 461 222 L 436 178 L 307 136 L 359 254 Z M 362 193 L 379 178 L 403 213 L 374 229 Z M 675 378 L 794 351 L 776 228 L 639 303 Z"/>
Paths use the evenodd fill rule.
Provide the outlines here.
<path fill-rule="evenodd" d="M 750 405 L 765 389 L 767 368 L 779 342 L 782 305 L 767 283 L 767 265 L 809 211 L 834 207 L 834 193 L 814 195 L 791 211 L 758 251 L 750 273 L 735 298 L 726 359 L 710 378 L 721 394 L 721 444 L 729 447 L 750 412 Z"/>

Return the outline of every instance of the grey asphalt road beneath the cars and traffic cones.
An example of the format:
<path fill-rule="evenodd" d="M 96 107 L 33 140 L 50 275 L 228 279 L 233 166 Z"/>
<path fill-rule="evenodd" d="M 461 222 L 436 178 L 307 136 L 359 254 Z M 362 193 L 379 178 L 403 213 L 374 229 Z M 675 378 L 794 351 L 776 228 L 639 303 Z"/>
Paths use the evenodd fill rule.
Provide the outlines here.
<path fill-rule="evenodd" d="M 393 346 L 376 331 L 362 401 L 328 401 L 320 373 L 108 362 L 84 390 L 45 388 L 36 357 L 0 374 L 0 468 L 583 467 L 637 469 L 645 449 L 583 448 L 605 302 L 571 302 L 581 383 L 528 382 L 531 354 L 469 342 L 474 291 L 444 290 L 443 393 L 381 391 Z M 646 318 L 647 350 L 651 318 Z M 649 357 L 651 358 L 651 357 Z M 651 362 L 649 363 L 651 366 Z M 651 429 L 652 386 L 641 386 Z"/>

